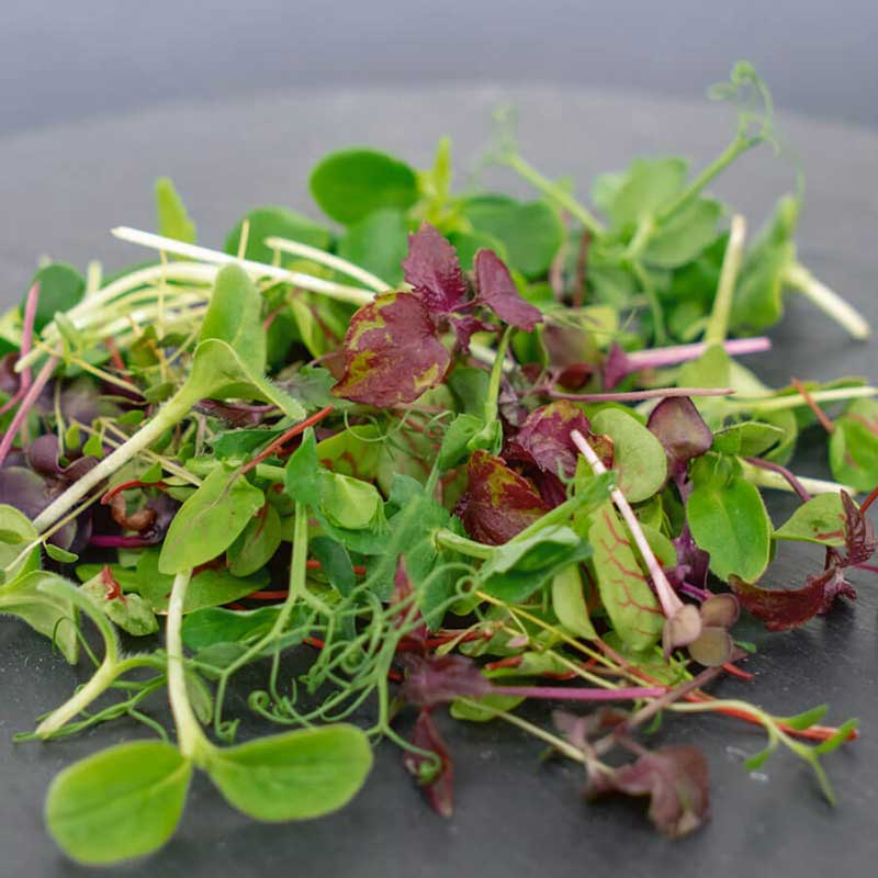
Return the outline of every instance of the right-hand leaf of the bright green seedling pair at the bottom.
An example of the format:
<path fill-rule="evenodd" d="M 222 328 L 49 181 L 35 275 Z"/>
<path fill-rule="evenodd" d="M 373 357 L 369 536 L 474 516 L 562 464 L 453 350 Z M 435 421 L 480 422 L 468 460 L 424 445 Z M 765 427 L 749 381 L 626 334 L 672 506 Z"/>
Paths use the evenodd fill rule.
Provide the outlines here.
<path fill-rule="evenodd" d="M 307 820 L 353 798 L 372 766 L 369 739 L 337 723 L 214 751 L 205 766 L 234 808 L 256 820 Z"/>

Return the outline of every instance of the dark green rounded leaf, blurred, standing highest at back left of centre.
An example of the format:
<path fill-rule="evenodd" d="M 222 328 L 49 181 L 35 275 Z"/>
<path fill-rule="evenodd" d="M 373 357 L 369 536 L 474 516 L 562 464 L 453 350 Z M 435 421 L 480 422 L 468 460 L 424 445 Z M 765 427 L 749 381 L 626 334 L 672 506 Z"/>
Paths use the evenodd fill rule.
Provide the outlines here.
<path fill-rule="evenodd" d="M 311 172 L 311 193 L 327 216 L 341 225 L 374 211 L 408 210 L 418 181 L 408 165 L 374 149 L 345 149 L 324 158 Z"/>

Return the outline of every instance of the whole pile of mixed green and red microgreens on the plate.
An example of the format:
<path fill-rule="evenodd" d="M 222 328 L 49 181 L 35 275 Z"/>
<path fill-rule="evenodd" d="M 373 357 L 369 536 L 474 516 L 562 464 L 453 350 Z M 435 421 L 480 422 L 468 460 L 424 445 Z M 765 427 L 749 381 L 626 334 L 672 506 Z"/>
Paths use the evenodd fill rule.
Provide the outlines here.
<path fill-rule="evenodd" d="M 94 667 L 19 739 L 120 717 L 148 733 L 53 783 L 46 821 L 68 855 L 161 846 L 195 769 L 258 820 L 327 813 L 381 739 L 450 814 L 443 705 L 581 763 L 588 795 L 648 795 L 671 836 L 706 819 L 708 770 L 695 746 L 648 748 L 638 733 L 660 714 L 755 723 L 767 746 L 746 764 L 783 745 L 832 800 L 820 756 L 854 721 L 706 689 L 752 676 L 742 608 L 802 624 L 854 596 L 845 572 L 876 548 L 876 493 L 854 499 L 878 483 L 876 389 L 773 390 L 735 357 L 770 347 L 757 334 L 787 291 L 869 329 L 797 261 L 798 195 L 748 243 L 707 194 L 775 144 L 750 66 L 714 97 L 739 104 L 716 161 L 690 176 L 635 160 L 597 178 L 594 213 L 505 132 L 492 157 L 534 201 L 453 194 L 447 140 L 420 172 L 351 149 L 311 177 L 340 232 L 262 207 L 210 249 L 161 180 L 158 234 L 114 230 L 158 261 L 40 269 L 0 320 L 0 611 Z M 813 421 L 837 483 L 787 469 Z M 801 505 L 775 527 L 759 488 Z M 766 576 L 783 540 L 825 548 L 791 590 Z M 249 708 L 284 731 L 235 744 L 226 696 L 252 665 Z M 536 724 L 516 711 L 529 699 L 566 709 Z"/>

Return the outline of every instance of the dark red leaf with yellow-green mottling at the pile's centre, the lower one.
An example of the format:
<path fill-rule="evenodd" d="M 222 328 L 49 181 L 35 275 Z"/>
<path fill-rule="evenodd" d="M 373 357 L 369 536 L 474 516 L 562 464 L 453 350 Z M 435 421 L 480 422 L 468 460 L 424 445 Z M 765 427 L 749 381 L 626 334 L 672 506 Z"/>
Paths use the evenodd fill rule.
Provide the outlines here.
<path fill-rule="evenodd" d="M 487 451 L 473 452 L 466 475 L 454 511 L 474 540 L 499 545 L 549 511 L 527 479 Z"/>

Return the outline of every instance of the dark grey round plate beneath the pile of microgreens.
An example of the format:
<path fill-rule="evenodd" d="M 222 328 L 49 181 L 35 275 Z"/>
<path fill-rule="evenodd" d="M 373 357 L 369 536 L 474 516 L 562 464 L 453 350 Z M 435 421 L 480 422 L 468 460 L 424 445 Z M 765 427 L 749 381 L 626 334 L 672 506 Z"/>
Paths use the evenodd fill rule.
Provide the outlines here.
<path fill-rule="evenodd" d="M 44 254 L 108 267 L 146 254 L 114 243 L 117 224 L 151 227 L 151 183 L 177 181 L 201 240 L 218 245 L 246 209 L 280 203 L 311 210 L 307 171 L 326 150 L 350 144 L 392 149 L 426 166 L 437 138 L 453 135 L 458 167 L 472 167 L 489 142 L 491 112 L 504 101 L 520 109 L 525 149 L 545 172 L 585 181 L 642 154 L 683 151 L 700 165 L 724 145 L 728 110 L 631 95 L 558 89 L 288 92 L 258 101 L 179 105 L 136 116 L 50 128 L 0 142 L 0 283 L 18 299 Z M 808 172 L 801 258 L 878 325 L 878 136 L 785 120 Z M 514 180 L 497 182 L 521 189 Z M 718 187 L 755 226 L 770 201 L 792 187 L 790 165 L 751 156 Z M 753 361 L 766 380 L 829 379 L 878 372 L 874 346 L 851 344 L 804 302 L 790 303 L 774 333 L 775 351 Z M 825 476 L 823 437 L 809 437 L 798 469 Z M 776 520 L 792 509 L 772 500 Z M 800 582 L 819 553 L 787 550 L 772 577 Z M 801 631 L 764 637 L 748 662 L 752 684 L 727 680 L 721 693 L 752 698 L 773 712 L 822 701 L 833 721 L 863 720 L 859 742 L 831 756 L 840 804 L 830 808 L 808 770 L 773 757 L 762 774 L 741 765 L 761 735 L 732 720 L 671 718 L 666 741 L 706 748 L 714 819 L 672 844 L 653 834 L 642 809 L 627 802 L 586 806 L 573 766 L 538 762 L 540 745 L 509 728 L 443 722 L 458 764 L 457 812 L 436 818 L 405 775 L 398 753 L 378 751 L 365 789 L 341 813 L 300 825 L 258 825 L 228 809 L 203 780 L 194 785 L 180 830 L 148 863 L 119 874 L 199 876 L 529 876 L 656 874 L 817 876 L 869 874 L 878 855 L 878 685 L 876 589 L 857 573 L 856 606 L 838 607 Z M 52 776 L 74 759 L 131 736 L 124 722 L 80 739 L 12 746 L 10 735 L 63 700 L 81 680 L 30 629 L 0 624 L 0 875 L 63 876 L 83 870 L 64 862 L 44 833 L 42 802 Z M 160 708 L 158 708 L 160 709 Z M 246 708 L 244 708 L 246 714 Z M 108 802 L 106 820 L 113 819 Z M 106 874 L 106 873 L 104 873 Z"/>

